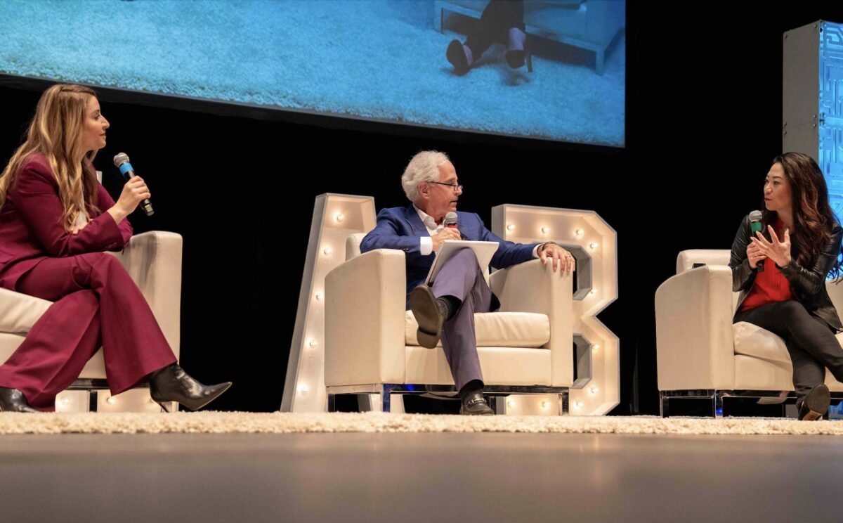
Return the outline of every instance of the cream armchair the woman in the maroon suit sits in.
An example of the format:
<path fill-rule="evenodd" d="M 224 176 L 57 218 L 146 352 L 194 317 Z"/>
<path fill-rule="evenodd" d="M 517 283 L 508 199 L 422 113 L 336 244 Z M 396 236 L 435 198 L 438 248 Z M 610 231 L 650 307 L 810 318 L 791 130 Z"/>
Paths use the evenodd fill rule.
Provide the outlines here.
<path fill-rule="evenodd" d="M 181 236 L 151 231 L 132 236 L 126 248 L 110 253 L 126 267 L 153 310 L 176 358 L 179 357 L 181 307 Z M 24 341 L 26 334 L 52 302 L 0 288 L 0 362 Z M 105 389 L 102 349 L 79 375 L 72 389 Z M 85 406 L 87 408 L 87 406 Z"/>

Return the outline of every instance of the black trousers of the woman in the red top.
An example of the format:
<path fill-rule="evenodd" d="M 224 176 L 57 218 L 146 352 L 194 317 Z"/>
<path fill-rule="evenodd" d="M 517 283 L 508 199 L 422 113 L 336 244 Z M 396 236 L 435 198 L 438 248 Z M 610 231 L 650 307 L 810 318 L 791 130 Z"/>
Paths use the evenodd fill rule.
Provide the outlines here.
<path fill-rule="evenodd" d="M 773 332 L 785 341 L 793 363 L 793 388 L 797 404 L 813 386 L 825 381 L 825 368 L 843 381 L 843 348 L 829 324 L 811 315 L 795 299 L 745 310 L 735 323 L 748 321 Z"/>

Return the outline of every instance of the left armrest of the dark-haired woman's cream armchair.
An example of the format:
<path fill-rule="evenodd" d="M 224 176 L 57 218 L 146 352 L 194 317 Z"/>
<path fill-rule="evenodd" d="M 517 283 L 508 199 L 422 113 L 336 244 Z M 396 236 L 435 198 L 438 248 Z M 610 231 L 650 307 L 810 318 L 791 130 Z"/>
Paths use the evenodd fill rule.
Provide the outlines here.
<path fill-rule="evenodd" d="M 658 390 L 734 388 L 732 270 L 697 267 L 656 290 Z"/>

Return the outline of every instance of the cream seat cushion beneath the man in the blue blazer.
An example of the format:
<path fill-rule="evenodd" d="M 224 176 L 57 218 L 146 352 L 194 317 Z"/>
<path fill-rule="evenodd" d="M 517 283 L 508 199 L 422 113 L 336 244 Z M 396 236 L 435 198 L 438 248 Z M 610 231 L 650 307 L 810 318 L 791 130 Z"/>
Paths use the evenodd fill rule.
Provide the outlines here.
<path fill-rule="evenodd" d="M 404 339 L 418 346 L 416 316 L 406 311 Z M 477 347 L 541 348 L 550 341 L 550 320 L 534 312 L 476 312 Z M 437 347 L 442 347 L 439 340 Z"/>

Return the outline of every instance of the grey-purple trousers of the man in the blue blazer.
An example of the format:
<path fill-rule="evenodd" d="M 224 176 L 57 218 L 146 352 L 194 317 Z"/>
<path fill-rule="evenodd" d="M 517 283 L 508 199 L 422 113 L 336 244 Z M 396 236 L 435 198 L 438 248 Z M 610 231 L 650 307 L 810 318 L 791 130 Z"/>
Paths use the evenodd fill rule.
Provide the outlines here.
<path fill-rule="evenodd" d="M 497 299 L 483 278 L 474 251 L 462 249 L 444 263 L 432 286 L 433 295 L 462 301 L 457 313 L 445 321 L 442 347 L 457 390 L 471 380 L 483 380 L 475 338 L 475 312 L 489 312 Z"/>

